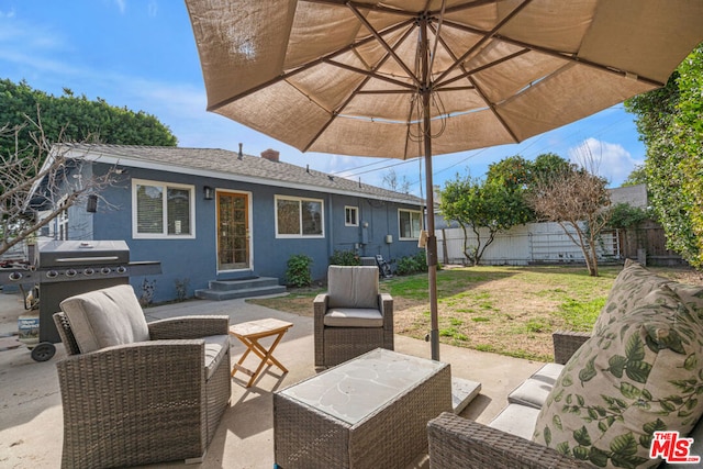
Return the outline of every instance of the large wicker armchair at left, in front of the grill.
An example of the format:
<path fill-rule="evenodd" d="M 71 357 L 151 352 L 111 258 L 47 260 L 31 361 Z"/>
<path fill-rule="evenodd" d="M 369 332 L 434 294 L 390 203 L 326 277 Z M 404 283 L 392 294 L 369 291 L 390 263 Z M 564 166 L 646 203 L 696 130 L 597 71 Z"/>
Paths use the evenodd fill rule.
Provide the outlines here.
<path fill-rule="evenodd" d="M 130 286 L 72 297 L 62 310 L 54 315 L 68 355 L 56 365 L 64 411 L 62 467 L 201 461 L 230 405 L 228 317 L 146 324 Z M 103 320 L 111 326 L 122 313 L 131 315 L 118 324 L 118 342 L 125 331 L 130 335 L 125 323 L 142 327 L 141 316 L 146 336 L 108 346 L 98 336 L 91 350 L 81 323 L 90 313 L 108 313 Z M 91 326 L 98 323 L 93 317 Z"/>

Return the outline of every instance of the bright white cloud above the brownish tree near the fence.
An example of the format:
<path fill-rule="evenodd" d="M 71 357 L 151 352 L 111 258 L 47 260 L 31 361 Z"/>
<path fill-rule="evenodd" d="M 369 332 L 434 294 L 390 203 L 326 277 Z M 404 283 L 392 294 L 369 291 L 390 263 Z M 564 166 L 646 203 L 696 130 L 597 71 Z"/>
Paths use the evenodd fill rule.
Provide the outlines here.
<path fill-rule="evenodd" d="M 577 147 L 569 148 L 568 154 L 569 159 L 577 164 L 583 164 L 584 157 L 593 157 L 594 172 L 606 178 L 611 187 L 620 186 L 636 165 L 644 164 L 643 160 L 633 158 L 621 144 L 601 142 L 593 137 L 587 138 Z"/>

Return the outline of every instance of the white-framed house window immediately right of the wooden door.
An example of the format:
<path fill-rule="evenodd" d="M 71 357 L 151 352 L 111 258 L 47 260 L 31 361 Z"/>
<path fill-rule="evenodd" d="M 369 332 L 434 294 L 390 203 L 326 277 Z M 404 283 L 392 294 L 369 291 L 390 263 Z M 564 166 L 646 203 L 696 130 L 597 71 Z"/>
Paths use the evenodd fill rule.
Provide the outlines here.
<path fill-rule="evenodd" d="M 276 236 L 324 237 L 322 209 L 322 200 L 276 196 Z"/>

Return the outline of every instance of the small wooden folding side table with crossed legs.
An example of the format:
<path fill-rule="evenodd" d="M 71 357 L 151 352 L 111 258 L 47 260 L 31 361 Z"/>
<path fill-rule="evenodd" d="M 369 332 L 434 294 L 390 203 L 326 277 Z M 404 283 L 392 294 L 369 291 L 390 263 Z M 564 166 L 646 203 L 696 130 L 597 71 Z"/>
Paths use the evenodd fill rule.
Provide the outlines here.
<path fill-rule="evenodd" d="M 256 378 L 259 376 L 266 364 L 276 365 L 284 373 L 288 372 L 286 367 L 281 365 L 281 362 L 276 358 L 274 358 L 274 350 L 276 349 L 276 346 L 278 346 L 278 343 L 281 342 L 283 334 L 286 334 L 286 332 L 292 326 L 292 323 L 275 320 L 271 317 L 258 321 L 249 321 L 247 323 L 234 324 L 230 326 L 230 334 L 235 336 L 239 339 L 239 342 L 246 345 L 246 351 L 244 353 L 244 355 L 242 355 L 239 361 L 237 361 L 232 368 L 231 376 L 234 377 L 234 373 L 237 371 L 242 371 L 245 375 L 250 376 L 252 378 L 246 384 L 246 387 L 249 388 L 254 383 L 254 381 L 256 381 Z M 268 349 L 259 344 L 259 339 L 271 336 L 276 336 L 276 338 Z M 244 364 L 244 360 L 250 351 L 254 351 L 254 354 L 261 359 L 261 362 L 255 371 L 252 371 L 250 369 L 245 368 L 242 365 Z"/>

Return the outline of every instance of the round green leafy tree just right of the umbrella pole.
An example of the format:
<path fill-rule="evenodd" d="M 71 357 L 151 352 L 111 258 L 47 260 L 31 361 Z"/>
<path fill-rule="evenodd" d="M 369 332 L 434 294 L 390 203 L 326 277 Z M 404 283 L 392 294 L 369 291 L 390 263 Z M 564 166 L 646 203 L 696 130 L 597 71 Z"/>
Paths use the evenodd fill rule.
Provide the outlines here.
<path fill-rule="evenodd" d="M 505 185 L 498 177 L 481 181 L 457 176 L 454 181 L 445 183 L 440 196 L 439 209 L 446 220 L 457 221 L 464 230 L 464 255 L 475 266 L 480 264 L 496 234 L 533 217 L 522 188 Z M 488 238 L 481 237 L 481 227 L 488 228 Z M 469 242 L 469 230 L 476 235 L 476 244 Z"/>

